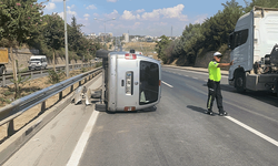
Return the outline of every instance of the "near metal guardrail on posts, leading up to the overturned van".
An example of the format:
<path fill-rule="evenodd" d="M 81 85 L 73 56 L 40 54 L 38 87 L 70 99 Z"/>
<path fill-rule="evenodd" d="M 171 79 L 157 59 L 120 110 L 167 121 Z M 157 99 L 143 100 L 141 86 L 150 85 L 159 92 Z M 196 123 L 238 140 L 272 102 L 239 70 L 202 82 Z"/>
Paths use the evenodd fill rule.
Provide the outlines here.
<path fill-rule="evenodd" d="M 59 93 L 59 101 L 62 98 L 62 91 L 69 86 L 71 86 L 70 92 L 73 92 L 73 85 L 79 82 L 79 86 L 81 85 L 81 81 L 85 80 L 87 82 L 87 76 L 89 76 L 89 80 L 93 77 L 93 74 L 100 73 L 102 68 L 95 69 L 92 71 L 89 71 L 87 73 L 79 74 L 77 76 L 73 76 L 71 79 L 64 80 L 60 83 L 57 83 L 54 85 L 51 85 L 47 89 L 37 91 L 30 95 L 27 95 L 24 97 L 21 97 L 11 104 L 0 108 L 0 126 L 9 123 L 8 126 L 8 136 L 12 135 L 14 133 L 13 127 L 13 120 L 21 115 L 23 112 L 28 111 L 29 108 L 38 105 L 41 103 L 41 113 L 46 111 L 46 101 Z M 91 77 L 92 76 L 92 77 Z"/>

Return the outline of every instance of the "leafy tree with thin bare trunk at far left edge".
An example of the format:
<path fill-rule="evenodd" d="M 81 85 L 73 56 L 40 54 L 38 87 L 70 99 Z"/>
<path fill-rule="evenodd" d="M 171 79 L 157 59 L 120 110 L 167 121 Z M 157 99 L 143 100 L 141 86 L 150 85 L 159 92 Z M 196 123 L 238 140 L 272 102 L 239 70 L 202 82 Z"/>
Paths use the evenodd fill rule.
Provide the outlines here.
<path fill-rule="evenodd" d="M 32 33 L 38 31 L 38 27 L 42 23 L 42 3 L 37 0 L 1 0 L 0 1 L 0 40 L 2 38 L 9 41 L 13 80 L 16 87 L 16 98 L 19 95 L 18 74 L 16 60 L 13 58 L 12 46 L 21 45 L 21 43 L 32 39 Z"/>

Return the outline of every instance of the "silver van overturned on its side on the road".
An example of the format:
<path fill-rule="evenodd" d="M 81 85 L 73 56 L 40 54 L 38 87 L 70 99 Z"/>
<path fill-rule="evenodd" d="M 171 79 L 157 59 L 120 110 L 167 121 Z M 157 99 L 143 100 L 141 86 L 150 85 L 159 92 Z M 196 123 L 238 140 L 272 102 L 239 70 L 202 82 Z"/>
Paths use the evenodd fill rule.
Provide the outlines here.
<path fill-rule="evenodd" d="M 102 108 L 108 112 L 151 107 L 161 97 L 161 66 L 148 56 L 129 52 L 97 51 L 102 58 Z M 96 104 L 96 110 L 101 104 Z M 103 110 L 102 110 L 103 111 Z"/>

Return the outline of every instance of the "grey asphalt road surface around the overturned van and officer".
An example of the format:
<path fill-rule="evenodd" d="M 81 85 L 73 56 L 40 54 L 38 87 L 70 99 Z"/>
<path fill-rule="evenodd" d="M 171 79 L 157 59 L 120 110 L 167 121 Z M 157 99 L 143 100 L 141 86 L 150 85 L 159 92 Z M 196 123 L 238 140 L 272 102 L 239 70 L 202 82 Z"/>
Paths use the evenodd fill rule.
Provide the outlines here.
<path fill-rule="evenodd" d="M 266 92 L 238 94 L 222 76 L 229 116 L 210 116 L 203 113 L 207 73 L 162 71 L 162 97 L 155 111 L 107 114 L 70 105 L 6 165 L 278 164 L 278 97 Z M 214 111 L 218 112 L 216 104 Z M 96 124 L 90 124 L 92 115 Z"/>

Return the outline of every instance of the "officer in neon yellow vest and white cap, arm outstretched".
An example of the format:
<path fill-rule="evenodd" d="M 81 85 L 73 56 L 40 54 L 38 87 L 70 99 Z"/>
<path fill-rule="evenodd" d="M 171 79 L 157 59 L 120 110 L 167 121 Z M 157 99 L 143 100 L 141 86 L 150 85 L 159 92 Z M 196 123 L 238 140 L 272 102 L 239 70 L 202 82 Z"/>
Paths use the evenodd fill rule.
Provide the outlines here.
<path fill-rule="evenodd" d="M 222 95 L 220 89 L 221 72 L 220 68 L 230 66 L 234 64 L 234 61 L 230 63 L 219 63 L 222 58 L 220 52 L 214 53 L 214 60 L 209 62 L 209 80 L 208 80 L 208 101 L 207 101 L 207 114 L 214 115 L 212 104 L 216 98 L 217 107 L 220 116 L 226 116 L 228 113 L 224 111 L 222 106 Z"/>

